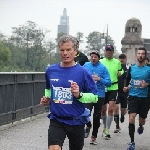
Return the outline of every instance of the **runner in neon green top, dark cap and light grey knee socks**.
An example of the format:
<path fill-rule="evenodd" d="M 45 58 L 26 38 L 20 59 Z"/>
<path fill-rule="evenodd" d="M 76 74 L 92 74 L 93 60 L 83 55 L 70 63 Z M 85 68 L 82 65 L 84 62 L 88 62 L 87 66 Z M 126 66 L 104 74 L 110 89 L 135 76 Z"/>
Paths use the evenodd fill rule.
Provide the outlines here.
<path fill-rule="evenodd" d="M 111 138 L 109 130 L 113 120 L 113 110 L 118 93 L 118 76 L 121 76 L 121 74 L 123 73 L 120 61 L 118 59 L 113 58 L 113 54 L 113 45 L 107 44 L 105 47 L 106 58 L 100 60 L 100 62 L 104 64 L 108 69 L 111 78 L 111 86 L 106 88 L 105 102 L 102 107 L 102 119 L 104 124 L 102 136 L 105 137 L 105 139 Z M 108 116 L 106 116 L 107 104 L 109 104 Z"/>

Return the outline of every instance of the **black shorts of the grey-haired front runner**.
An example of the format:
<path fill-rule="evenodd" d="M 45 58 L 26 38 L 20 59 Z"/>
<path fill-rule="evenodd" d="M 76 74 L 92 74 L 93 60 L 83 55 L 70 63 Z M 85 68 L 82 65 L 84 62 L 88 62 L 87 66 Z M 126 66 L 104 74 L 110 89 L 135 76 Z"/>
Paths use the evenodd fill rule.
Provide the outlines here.
<path fill-rule="evenodd" d="M 57 120 L 50 120 L 48 129 L 48 147 L 63 146 L 66 136 L 71 150 L 82 150 L 84 146 L 84 125 L 67 125 Z"/>

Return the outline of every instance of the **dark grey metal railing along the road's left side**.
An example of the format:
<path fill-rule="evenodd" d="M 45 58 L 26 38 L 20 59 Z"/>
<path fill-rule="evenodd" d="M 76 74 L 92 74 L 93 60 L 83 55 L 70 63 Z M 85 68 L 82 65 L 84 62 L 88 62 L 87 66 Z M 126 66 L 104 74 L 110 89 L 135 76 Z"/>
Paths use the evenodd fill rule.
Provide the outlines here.
<path fill-rule="evenodd" d="M 44 72 L 0 72 L 0 125 L 45 112 Z"/>

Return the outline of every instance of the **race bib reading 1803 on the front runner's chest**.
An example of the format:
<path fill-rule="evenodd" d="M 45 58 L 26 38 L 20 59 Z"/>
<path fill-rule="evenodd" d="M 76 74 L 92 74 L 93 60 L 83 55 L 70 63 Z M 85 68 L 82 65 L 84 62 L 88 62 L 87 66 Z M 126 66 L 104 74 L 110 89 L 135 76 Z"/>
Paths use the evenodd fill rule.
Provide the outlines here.
<path fill-rule="evenodd" d="M 53 87 L 53 101 L 61 104 L 72 104 L 71 88 Z"/>

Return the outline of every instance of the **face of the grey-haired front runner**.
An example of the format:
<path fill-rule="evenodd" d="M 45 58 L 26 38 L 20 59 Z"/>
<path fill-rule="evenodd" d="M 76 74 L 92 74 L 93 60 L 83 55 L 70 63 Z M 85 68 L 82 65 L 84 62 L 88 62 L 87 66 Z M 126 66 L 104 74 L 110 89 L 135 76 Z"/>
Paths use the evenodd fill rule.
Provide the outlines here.
<path fill-rule="evenodd" d="M 76 50 L 73 48 L 72 41 L 61 43 L 59 45 L 60 57 L 63 63 L 72 63 L 74 62 L 74 57 L 76 54 Z"/>

